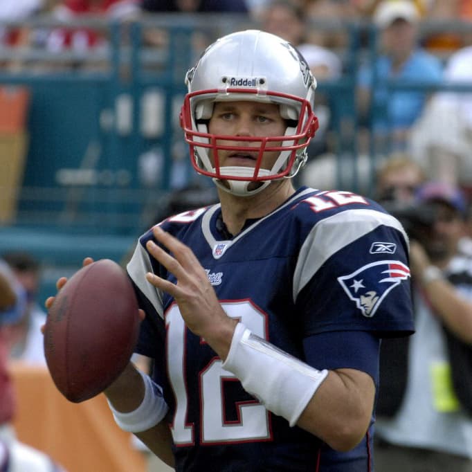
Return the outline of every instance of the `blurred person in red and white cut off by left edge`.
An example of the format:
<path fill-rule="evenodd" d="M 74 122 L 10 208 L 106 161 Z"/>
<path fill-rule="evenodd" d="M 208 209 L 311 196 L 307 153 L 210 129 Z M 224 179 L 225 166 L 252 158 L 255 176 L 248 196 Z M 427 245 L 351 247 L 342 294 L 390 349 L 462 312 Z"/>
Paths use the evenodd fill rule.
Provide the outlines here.
<path fill-rule="evenodd" d="M 0 261 L 0 471 L 64 472 L 51 457 L 19 442 L 11 425 L 17 405 L 8 372 L 10 326 L 23 316 L 25 307 L 24 289 L 8 265 Z"/>

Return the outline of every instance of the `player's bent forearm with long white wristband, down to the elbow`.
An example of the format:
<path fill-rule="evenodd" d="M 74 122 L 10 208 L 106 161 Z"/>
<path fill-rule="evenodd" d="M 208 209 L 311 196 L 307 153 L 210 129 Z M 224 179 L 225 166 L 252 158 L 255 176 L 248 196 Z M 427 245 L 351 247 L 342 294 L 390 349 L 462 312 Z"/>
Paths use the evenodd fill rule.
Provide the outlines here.
<path fill-rule="evenodd" d="M 239 323 L 223 364 L 267 410 L 338 451 L 361 441 L 374 405 L 374 381 L 364 372 L 311 367 Z"/>

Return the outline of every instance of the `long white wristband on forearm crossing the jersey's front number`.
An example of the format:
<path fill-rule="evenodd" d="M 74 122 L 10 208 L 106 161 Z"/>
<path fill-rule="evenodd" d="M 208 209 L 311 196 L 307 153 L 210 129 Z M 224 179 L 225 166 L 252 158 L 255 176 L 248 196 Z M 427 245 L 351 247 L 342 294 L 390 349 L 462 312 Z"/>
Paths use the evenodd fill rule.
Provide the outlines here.
<path fill-rule="evenodd" d="M 294 426 L 328 371 L 314 367 L 236 325 L 222 367 L 235 374 L 246 392 Z"/>

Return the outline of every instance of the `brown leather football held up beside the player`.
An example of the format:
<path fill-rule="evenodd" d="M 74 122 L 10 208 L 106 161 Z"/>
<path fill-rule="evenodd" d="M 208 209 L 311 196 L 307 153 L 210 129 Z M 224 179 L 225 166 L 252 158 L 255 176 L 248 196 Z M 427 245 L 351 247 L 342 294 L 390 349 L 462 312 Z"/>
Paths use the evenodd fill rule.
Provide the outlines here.
<path fill-rule="evenodd" d="M 79 403 L 105 390 L 124 370 L 139 329 L 138 302 L 125 271 L 98 260 L 60 289 L 44 327 L 44 354 L 53 381 Z"/>

